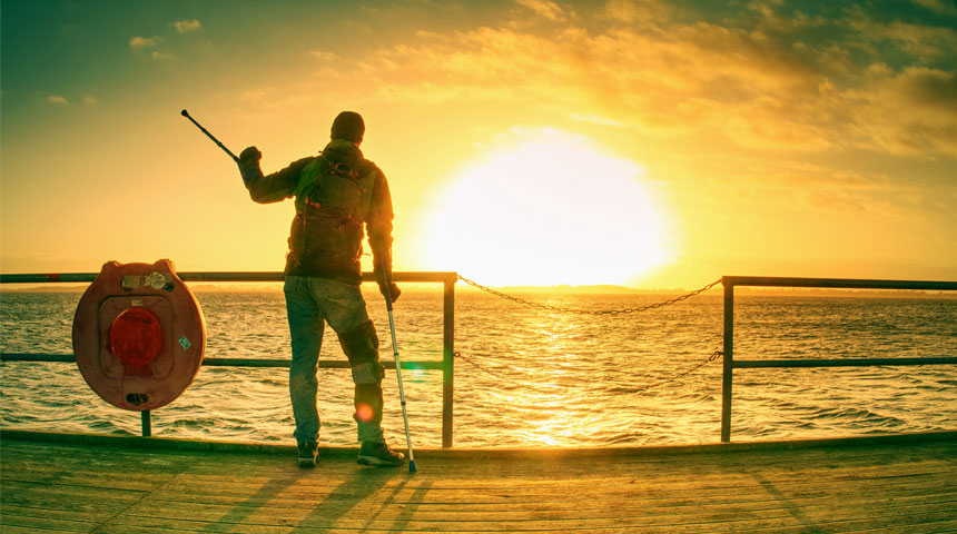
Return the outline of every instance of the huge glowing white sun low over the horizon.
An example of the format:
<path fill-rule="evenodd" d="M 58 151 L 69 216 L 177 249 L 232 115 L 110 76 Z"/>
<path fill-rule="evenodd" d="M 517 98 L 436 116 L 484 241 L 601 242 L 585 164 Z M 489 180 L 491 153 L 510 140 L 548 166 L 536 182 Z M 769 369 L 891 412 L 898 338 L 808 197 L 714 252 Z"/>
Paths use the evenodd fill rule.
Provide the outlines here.
<path fill-rule="evenodd" d="M 437 197 L 428 265 L 484 285 L 552 286 L 627 285 L 670 261 L 643 167 L 581 136 L 531 137 L 492 150 Z"/>

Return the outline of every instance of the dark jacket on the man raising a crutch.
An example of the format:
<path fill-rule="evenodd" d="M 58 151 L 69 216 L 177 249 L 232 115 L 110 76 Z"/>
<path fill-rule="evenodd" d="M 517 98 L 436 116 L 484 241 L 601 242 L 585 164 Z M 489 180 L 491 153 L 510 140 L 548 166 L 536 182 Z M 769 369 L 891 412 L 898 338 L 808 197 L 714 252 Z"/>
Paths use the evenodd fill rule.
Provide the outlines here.
<path fill-rule="evenodd" d="M 317 186 L 317 177 L 328 166 L 345 164 L 356 178 L 339 180 L 323 178 L 325 185 Z M 243 166 L 244 164 L 240 164 Z M 362 283 L 363 235 L 368 236 L 376 271 L 392 271 L 392 196 L 385 175 L 375 164 L 363 157 L 362 150 L 349 141 L 335 139 L 318 156 L 303 158 L 283 170 L 263 176 L 256 169 L 244 170 L 246 188 L 254 201 L 270 204 L 294 197 L 296 217 L 289 235 L 289 253 L 286 255 L 286 275 L 317 276 L 347 284 Z M 258 171 L 257 171 L 258 170 Z M 325 175 L 327 176 L 327 175 Z M 337 184 L 343 184 L 339 186 Z M 343 214 L 329 208 L 329 202 L 318 198 L 348 196 L 338 189 L 356 189 L 365 197 L 361 209 Z M 367 190 L 371 187 L 371 190 Z M 367 206 L 367 208 L 366 208 Z M 363 231 L 364 230 L 364 231 Z M 304 245 L 306 244 L 306 245 Z M 313 244 L 313 245 L 309 245 Z"/>

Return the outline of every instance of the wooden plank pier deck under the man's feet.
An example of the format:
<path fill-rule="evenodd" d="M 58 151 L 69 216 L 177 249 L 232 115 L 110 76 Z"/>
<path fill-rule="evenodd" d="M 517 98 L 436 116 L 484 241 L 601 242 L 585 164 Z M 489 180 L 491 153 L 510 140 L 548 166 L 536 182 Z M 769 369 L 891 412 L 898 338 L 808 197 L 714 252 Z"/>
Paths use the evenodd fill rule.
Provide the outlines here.
<path fill-rule="evenodd" d="M 2 434 L 13 533 L 957 532 L 957 433 L 931 438 L 421 451 L 418 473 L 325 451 Z M 211 448 L 211 447 L 210 447 Z"/>

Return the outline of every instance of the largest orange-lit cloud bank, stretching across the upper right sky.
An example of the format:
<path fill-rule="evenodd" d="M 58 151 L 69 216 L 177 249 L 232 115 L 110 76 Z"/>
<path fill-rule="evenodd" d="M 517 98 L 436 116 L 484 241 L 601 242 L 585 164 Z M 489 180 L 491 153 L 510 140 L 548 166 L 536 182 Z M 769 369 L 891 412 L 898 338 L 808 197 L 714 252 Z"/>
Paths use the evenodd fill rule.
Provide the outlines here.
<path fill-rule="evenodd" d="M 785 14 L 775 3 L 758 19 L 710 21 L 613 0 L 555 27 L 558 4 L 520 3 L 547 28 L 421 31 L 367 56 L 355 76 L 391 99 L 515 106 L 663 138 L 957 156 L 957 30 L 933 21 Z"/>

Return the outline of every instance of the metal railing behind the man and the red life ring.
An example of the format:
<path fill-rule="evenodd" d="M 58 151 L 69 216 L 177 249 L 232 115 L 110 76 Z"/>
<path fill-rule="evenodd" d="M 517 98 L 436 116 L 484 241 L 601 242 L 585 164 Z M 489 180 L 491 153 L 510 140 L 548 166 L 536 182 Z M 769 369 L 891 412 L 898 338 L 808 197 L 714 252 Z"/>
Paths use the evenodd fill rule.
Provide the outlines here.
<path fill-rule="evenodd" d="M 203 271 L 203 273 L 177 273 L 182 281 L 283 281 L 283 273 L 272 271 Z M 443 285 L 442 299 L 442 362 L 436 360 L 403 360 L 403 369 L 442 370 L 442 447 L 452 447 L 452 408 L 454 393 L 454 360 L 455 360 L 455 283 L 458 280 L 457 273 L 394 273 L 395 281 L 401 283 L 441 283 Z M 63 273 L 63 274 L 24 274 L 24 275 L 0 275 L 0 284 L 47 284 L 47 283 L 91 283 L 96 279 L 96 273 Z M 375 281 L 372 273 L 363 273 L 363 281 Z M 0 354 L 3 362 L 76 362 L 72 354 Z M 394 369 L 395 363 L 383 359 L 383 367 Z M 233 366 L 233 367 L 289 367 L 288 359 L 258 359 L 258 358 L 204 358 L 204 366 Z M 348 362 L 339 359 L 320 359 L 320 368 L 348 368 Z M 142 435 L 149 436 L 150 415 L 142 413 Z"/>

